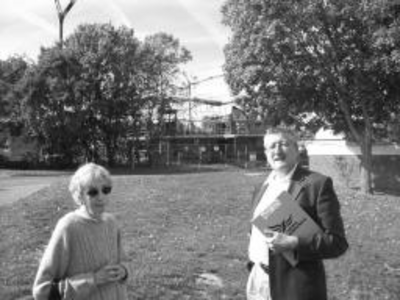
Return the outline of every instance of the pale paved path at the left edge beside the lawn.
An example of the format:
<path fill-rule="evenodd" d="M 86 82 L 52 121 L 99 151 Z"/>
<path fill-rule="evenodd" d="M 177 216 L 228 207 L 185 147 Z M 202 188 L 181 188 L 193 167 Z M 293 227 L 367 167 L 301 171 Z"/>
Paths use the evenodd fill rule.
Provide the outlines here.
<path fill-rule="evenodd" d="M 65 173 L 54 174 L 20 173 L 15 174 L 0 170 L 0 206 L 13 203 L 21 198 L 27 197 L 42 188 L 59 180 Z"/>

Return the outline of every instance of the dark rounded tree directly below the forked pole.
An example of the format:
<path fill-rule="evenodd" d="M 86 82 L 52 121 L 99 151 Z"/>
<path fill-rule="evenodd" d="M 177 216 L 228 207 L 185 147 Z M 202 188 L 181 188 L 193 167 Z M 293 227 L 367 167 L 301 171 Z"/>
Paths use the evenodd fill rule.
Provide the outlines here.
<path fill-rule="evenodd" d="M 42 49 L 38 63 L 24 78 L 23 117 L 27 134 L 35 138 L 44 155 L 65 156 L 72 163 L 80 152 L 87 128 L 76 110 L 75 92 L 82 69 L 78 61 L 58 47 Z"/>

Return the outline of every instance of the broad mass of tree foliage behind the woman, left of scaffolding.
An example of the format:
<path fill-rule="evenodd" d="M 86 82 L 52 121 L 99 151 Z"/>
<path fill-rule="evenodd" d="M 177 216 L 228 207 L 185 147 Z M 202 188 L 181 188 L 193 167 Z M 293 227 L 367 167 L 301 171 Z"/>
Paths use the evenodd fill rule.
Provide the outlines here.
<path fill-rule="evenodd" d="M 71 162 L 132 160 L 143 116 L 154 123 L 149 111 L 164 105 L 190 53 L 167 34 L 141 43 L 133 30 L 111 24 L 81 25 L 63 46 L 42 49 L 25 81 L 32 135 Z"/>

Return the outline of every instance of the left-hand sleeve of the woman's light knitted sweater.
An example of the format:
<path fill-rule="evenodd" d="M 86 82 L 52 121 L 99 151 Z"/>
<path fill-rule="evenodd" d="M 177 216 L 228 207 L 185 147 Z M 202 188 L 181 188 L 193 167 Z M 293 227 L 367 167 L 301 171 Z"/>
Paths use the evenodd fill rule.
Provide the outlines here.
<path fill-rule="evenodd" d="M 66 277 L 71 260 L 71 238 L 68 226 L 61 220 L 47 245 L 33 285 L 35 300 L 47 300 L 53 279 L 60 281 L 59 290 L 65 299 L 85 299 L 95 288 L 93 273 Z"/>

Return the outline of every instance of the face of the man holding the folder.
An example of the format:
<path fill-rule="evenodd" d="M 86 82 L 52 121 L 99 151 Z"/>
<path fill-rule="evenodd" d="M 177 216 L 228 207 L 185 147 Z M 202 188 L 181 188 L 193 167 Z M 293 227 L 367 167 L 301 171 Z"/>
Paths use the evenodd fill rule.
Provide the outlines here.
<path fill-rule="evenodd" d="M 289 172 L 298 159 L 294 141 L 280 133 L 270 134 L 264 139 L 265 155 L 273 170 Z"/>

